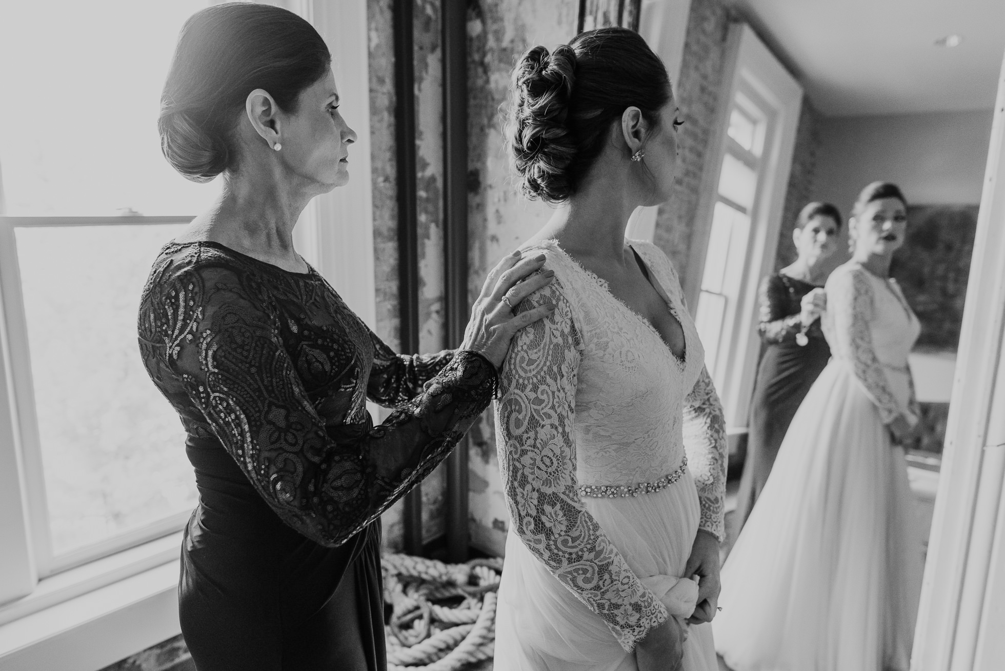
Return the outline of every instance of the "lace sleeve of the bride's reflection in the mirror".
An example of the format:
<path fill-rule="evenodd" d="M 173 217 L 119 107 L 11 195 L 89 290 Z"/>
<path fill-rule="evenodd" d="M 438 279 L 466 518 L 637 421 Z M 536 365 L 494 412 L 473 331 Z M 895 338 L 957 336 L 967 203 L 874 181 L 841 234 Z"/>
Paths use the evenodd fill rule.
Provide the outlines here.
<path fill-rule="evenodd" d="M 886 373 L 872 349 L 869 320 L 872 317 L 872 287 L 866 271 L 839 269 L 827 281 L 827 311 L 831 313 L 831 348 L 848 361 L 883 424 L 901 414 L 889 389 Z M 911 417 L 906 417 L 911 421 Z"/>

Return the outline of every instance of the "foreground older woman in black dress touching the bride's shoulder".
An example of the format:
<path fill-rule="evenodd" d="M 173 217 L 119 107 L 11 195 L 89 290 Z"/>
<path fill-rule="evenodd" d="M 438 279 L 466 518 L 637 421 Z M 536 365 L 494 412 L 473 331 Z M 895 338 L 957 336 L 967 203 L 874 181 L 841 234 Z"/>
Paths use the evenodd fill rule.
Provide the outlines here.
<path fill-rule="evenodd" d="M 521 282 L 544 258 L 514 255 L 457 351 L 381 342 L 291 243 L 311 198 L 349 179 L 339 104 L 318 32 L 250 3 L 190 18 L 164 88 L 165 156 L 224 180 L 154 262 L 139 318 L 199 489 L 179 605 L 200 671 L 386 666 L 379 516 L 487 407 L 514 333 L 552 310 L 514 316 L 551 282 Z M 367 398 L 397 409 L 375 427 Z"/>

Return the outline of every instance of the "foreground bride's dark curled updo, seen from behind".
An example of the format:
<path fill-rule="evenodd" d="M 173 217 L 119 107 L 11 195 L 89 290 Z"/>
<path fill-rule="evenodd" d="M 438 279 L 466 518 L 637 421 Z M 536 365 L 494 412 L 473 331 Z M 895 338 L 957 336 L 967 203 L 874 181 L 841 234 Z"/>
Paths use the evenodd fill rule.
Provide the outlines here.
<path fill-rule="evenodd" d="M 655 129 L 670 96 L 663 62 L 633 30 L 590 30 L 552 52 L 535 46 L 514 69 L 507 122 L 521 190 L 567 200 L 625 109 L 637 107 Z"/>

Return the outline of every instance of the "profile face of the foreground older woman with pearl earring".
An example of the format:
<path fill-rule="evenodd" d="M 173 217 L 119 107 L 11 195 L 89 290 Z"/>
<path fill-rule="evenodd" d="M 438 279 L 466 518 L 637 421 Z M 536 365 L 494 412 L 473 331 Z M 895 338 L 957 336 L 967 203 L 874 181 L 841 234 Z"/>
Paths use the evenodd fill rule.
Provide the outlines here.
<path fill-rule="evenodd" d="M 288 169 L 327 193 L 349 181 L 349 145 L 356 132 L 339 113 L 335 75 L 328 73 L 303 92 L 296 113 L 283 120 L 280 153 Z"/>

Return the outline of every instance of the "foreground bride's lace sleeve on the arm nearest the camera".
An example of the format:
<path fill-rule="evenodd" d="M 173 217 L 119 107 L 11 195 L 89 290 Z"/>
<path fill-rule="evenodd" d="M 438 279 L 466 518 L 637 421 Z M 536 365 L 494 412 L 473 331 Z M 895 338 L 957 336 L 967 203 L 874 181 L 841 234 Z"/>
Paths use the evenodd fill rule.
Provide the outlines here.
<path fill-rule="evenodd" d="M 556 281 L 521 304 L 555 313 L 521 331 L 502 367 L 495 426 L 514 530 L 626 651 L 668 617 L 583 507 L 573 416 L 581 341 Z"/>

